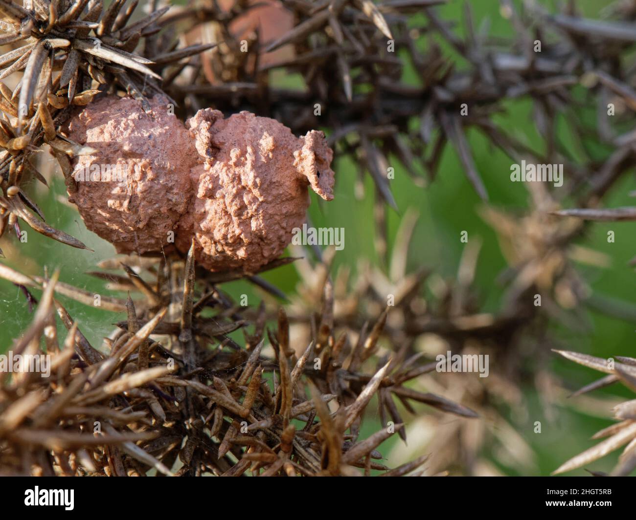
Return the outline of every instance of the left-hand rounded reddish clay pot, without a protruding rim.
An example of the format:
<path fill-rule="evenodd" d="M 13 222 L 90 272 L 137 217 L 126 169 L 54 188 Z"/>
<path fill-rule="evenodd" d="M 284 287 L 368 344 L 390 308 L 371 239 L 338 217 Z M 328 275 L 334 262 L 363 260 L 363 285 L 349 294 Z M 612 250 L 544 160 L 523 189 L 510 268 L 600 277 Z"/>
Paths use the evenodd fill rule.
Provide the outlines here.
<path fill-rule="evenodd" d="M 188 209 L 188 172 L 197 151 L 167 105 L 167 99 L 156 97 L 151 100 L 152 113 L 146 114 L 132 98 L 107 96 L 67 125 L 70 139 L 99 151 L 79 156 L 74 172 L 100 172 L 99 180 L 77 182 L 78 191 L 69 200 L 77 205 L 86 227 L 120 253 L 174 247 L 169 231 Z M 125 182 L 104 182 L 102 165 L 125 172 Z"/>

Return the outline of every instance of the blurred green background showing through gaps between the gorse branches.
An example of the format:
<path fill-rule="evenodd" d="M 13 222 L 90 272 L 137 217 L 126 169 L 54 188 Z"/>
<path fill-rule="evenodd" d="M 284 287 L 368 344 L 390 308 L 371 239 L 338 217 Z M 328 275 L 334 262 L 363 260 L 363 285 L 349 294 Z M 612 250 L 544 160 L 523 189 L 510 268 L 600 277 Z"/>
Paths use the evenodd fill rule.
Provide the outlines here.
<path fill-rule="evenodd" d="M 457 31 L 462 32 L 463 2 L 450 0 L 440 8 L 440 13 L 446 20 L 457 21 Z M 548 8 L 553 5 L 543 2 Z M 579 8 L 585 15 L 598 17 L 599 11 L 609 2 L 600 0 L 579 1 Z M 491 34 L 509 36 L 511 28 L 507 20 L 499 14 L 499 3 L 496 0 L 479 0 L 471 2 L 476 25 L 485 18 L 489 18 Z M 423 18 L 414 17 L 413 24 L 422 22 Z M 421 42 L 425 46 L 425 41 Z M 446 50 L 448 50 L 445 47 Z M 448 50 L 449 52 L 452 52 Z M 458 62 L 460 60 L 458 58 Z M 279 78 L 280 80 L 280 78 Z M 406 71 L 406 81 L 414 81 L 413 74 Z M 497 124 L 517 139 L 522 140 L 536 149 L 543 149 L 543 144 L 537 137 L 532 123 L 531 105 L 527 100 L 510 102 L 507 112 L 497 118 Z M 594 111 L 590 109 L 590 121 L 593 121 Z M 567 143 L 572 154 L 577 156 L 580 144 L 574 142 L 567 127 L 560 121 L 560 139 Z M 471 149 L 481 177 L 487 186 L 490 203 L 497 208 L 515 210 L 519 213 L 528 207 L 527 190 L 522 183 L 509 181 L 509 167 L 511 160 L 498 149 L 491 147 L 482 135 L 469 132 Z M 607 150 L 598 146 L 599 158 L 607 154 Z M 47 152 L 41 154 L 44 163 L 53 162 Z M 394 165 L 396 166 L 396 165 Z M 342 264 L 356 269 L 359 257 L 366 257 L 377 263 L 373 236 L 373 186 L 370 176 L 366 176 L 366 196 L 359 201 L 354 196 L 354 184 L 357 178 L 357 168 L 348 159 L 338 160 L 333 169 L 336 172 L 335 199 L 329 203 L 316 200 L 314 194 L 309 213 L 314 226 L 345 227 L 345 248 L 336 254 L 335 267 Z M 82 240 L 88 247 L 95 250 L 75 250 L 61 245 L 53 240 L 31 231 L 24 223 L 21 229 L 29 230 L 28 242 L 20 243 L 14 233 L 7 232 L 0 241 L 6 259 L 3 262 L 26 274 L 41 275 L 45 266 L 51 273 L 60 268 L 60 280 L 89 291 L 102 291 L 102 283 L 85 275 L 86 271 L 95 268 L 95 264 L 114 254 L 114 248 L 87 231 L 76 210 L 60 202 L 66 198 L 64 182 L 59 170 L 52 182 L 52 189 L 46 190 L 42 186 L 31 185 L 31 195 L 43 210 L 48 222 L 55 228 Z M 422 172 L 423 174 L 423 172 Z M 611 194 L 605 200 L 608 206 L 630 205 L 628 192 L 635 189 L 633 177 L 625 177 L 612 188 Z M 464 244 L 460 243 L 460 231 L 467 230 L 471 238 L 479 236 L 483 240 L 476 285 L 485 310 L 495 310 L 501 298 L 501 287 L 495 282 L 497 275 L 506 267 L 502 257 L 497 236 L 492 228 L 484 222 L 478 214 L 483 204 L 462 172 L 457 155 L 451 147 L 446 147 L 439 168 L 436 181 L 427 188 L 418 188 L 410 177 L 399 166 L 396 166 L 395 179 L 391 181 L 391 190 L 399 207 L 399 212 L 388 209 L 389 248 L 394 240 L 397 226 L 408 208 L 417 209 L 419 220 L 411 244 L 408 266 L 415 270 L 419 266 L 434 268 L 443 277 L 454 277 Z M 616 233 L 616 241 L 607 243 L 607 230 Z M 628 261 L 636 254 L 636 241 L 633 240 L 634 228 L 630 223 L 593 224 L 590 232 L 581 243 L 607 254 L 612 259 L 612 265 L 607 269 L 595 269 L 581 266 L 581 273 L 591 287 L 600 294 L 612 296 L 631 303 L 636 303 L 634 284 L 636 277 Z M 11 235 L 11 236 L 10 236 Z M 298 276 L 293 266 L 286 266 L 265 273 L 264 278 L 280 287 L 282 291 L 292 293 L 298 282 Z M 258 301 L 260 295 L 252 289 L 252 285 L 244 282 L 234 282 L 223 285 L 225 291 L 233 296 L 248 294 L 249 301 Z M 36 298 L 39 292 L 35 291 Z M 101 345 L 102 338 L 113 329 L 113 323 L 122 318 L 121 315 L 84 306 L 68 298 L 60 296 L 60 300 L 67 306 L 69 313 L 76 318 L 79 326 L 88 340 L 96 346 Z M 29 324 L 32 314 L 29 313 L 24 295 L 14 285 L 0 280 L 0 352 L 6 351 L 13 339 L 20 336 L 21 331 Z M 553 334 L 560 339 L 563 348 L 590 353 L 607 358 L 613 355 L 634 355 L 634 324 L 605 317 L 598 313 L 590 313 L 592 328 L 588 330 L 567 330 L 555 327 Z M 64 333 L 60 330 L 60 335 Z M 240 338 L 241 336 L 238 336 Z M 565 360 L 553 356 L 553 370 L 562 378 L 564 385 L 569 388 L 583 386 L 598 378 L 596 373 L 576 366 Z M 530 366 L 531 370 L 532 367 Z M 472 374 L 475 375 L 476 374 Z M 530 404 L 530 413 L 525 423 L 521 423 L 518 433 L 532 446 L 537 455 L 537 468 L 534 474 L 547 475 L 570 457 L 592 446 L 590 436 L 602 427 L 611 424 L 611 411 L 605 414 L 585 413 L 583 407 L 576 406 L 576 399 L 572 404 L 562 402 L 557 404 L 556 419 L 550 421 L 543 416 L 543 409 L 539 404 L 536 390 L 532 381 L 523 387 L 523 393 Z M 596 396 L 628 396 L 618 386 L 595 392 Z M 572 406 L 574 405 L 574 406 Z M 419 409 L 423 409 L 420 407 Z M 373 418 L 375 408 L 370 407 L 371 419 L 366 425 L 368 432 L 378 429 L 377 418 Z M 424 412 L 423 412 L 424 413 Z M 511 413 L 511 412 L 510 412 Z M 408 414 L 405 414 L 408 416 Z M 543 432 L 534 434 L 534 421 L 541 421 Z M 407 428 L 408 431 L 408 428 Z M 367 432 L 364 432 L 367 433 Z M 397 436 L 394 436 L 397 437 Z M 388 453 L 394 442 L 389 439 L 383 446 L 383 453 Z M 487 454 L 488 455 L 488 454 Z M 616 461 L 616 456 L 606 457 L 596 463 L 588 465 L 589 469 L 609 470 Z M 391 461 L 389 461 L 390 463 Z M 497 465 L 497 463 L 495 463 Z M 498 469 L 509 475 L 518 474 L 511 467 L 497 465 Z M 570 472 L 569 475 L 587 474 L 584 470 Z"/>

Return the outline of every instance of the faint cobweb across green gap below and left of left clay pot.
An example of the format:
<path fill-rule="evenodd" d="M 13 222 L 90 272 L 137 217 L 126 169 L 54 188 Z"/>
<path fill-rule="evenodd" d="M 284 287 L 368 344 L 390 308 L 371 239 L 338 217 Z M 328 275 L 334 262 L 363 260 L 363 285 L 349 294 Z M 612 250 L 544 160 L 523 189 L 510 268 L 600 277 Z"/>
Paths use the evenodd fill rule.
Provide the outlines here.
<path fill-rule="evenodd" d="M 46 177 L 50 188 L 32 179 L 23 184 L 23 189 L 31 200 L 39 205 L 47 224 L 73 235 L 94 252 L 74 249 L 52 238 L 39 235 L 18 220 L 22 240 L 18 238 L 15 229 L 7 229 L 0 240 L 0 248 L 4 252 L 4 259 L 1 261 L 10 268 L 30 276 L 50 276 L 59 268 L 60 282 L 97 294 L 113 296 L 113 292 L 106 291 L 102 281 L 86 274 L 87 271 L 95 270 L 100 260 L 115 254 L 113 246 L 86 229 L 76 208 L 67 201 L 62 172 L 48 151 L 38 154 L 38 168 Z M 29 289 L 29 292 L 39 301 L 41 291 Z M 113 331 L 113 323 L 120 319 L 117 313 L 92 308 L 60 295 L 56 298 L 78 322 L 79 329 L 86 339 L 96 348 L 102 345 L 104 336 Z M 35 307 L 35 302 L 29 301 L 24 289 L 6 280 L 0 280 L 0 352 L 8 350 L 13 341 L 24 334 L 31 324 Z M 57 322 L 61 343 L 66 337 L 66 327 L 59 319 Z"/>

